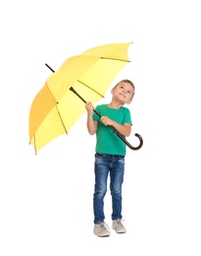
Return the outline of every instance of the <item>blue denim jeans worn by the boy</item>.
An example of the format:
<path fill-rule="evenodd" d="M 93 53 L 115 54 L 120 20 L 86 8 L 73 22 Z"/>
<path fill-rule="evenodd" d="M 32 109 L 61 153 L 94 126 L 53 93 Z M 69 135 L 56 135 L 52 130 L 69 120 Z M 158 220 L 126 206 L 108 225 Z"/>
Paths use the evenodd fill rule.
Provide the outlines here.
<path fill-rule="evenodd" d="M 110 173 L 112 220 L 122 219 L 122 185 L 125 174 L 125 157 L 95 154 L 95 187 L 93 194 L 94 224 L 104 222 L 104 197 Z"/>

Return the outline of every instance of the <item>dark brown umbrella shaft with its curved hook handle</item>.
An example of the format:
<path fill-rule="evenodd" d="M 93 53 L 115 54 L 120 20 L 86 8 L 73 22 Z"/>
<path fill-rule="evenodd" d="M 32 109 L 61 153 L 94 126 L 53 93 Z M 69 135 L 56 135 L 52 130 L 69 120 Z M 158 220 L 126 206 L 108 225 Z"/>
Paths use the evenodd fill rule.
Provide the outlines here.
<path fill-rule="evenodd" d="M 73 92 L 76 96 L 78 96 L 84 103 L 86 103 L 86 100 L 85 100 L 82 96 L 79 96 L 79 95 L 76 93 L 76 91 L 74 90 L 73 87 L 70 88 L 70 91 L 72 91 L 72 92 Z M 100 115 L 95 109 L 93 109 L 93 111 L 101 118 L 101 115 Z M 137 147 L 133 147 L 133 146 L 131 146 L 131 145 L 126 141 L 125 137 L 124 137 L 113 125 L 108 125 L 108 126 L 118 135 L 118 137 L 119 137 L 122 141 L 124 141 L 124 142 L 126 143 L 126 145 L 127 145 L 131 150 L 137 151 L 137 150 L 139 150 L 139 149 L 142 147 L 142 145 L 143 145 L 143 139 L 142 139 L 142 137 L 141 137 L 139 134 L 135 133 L 135 136 L 139 139 L 139 145 L 138 145 Z"/>

